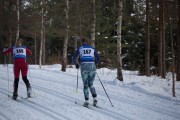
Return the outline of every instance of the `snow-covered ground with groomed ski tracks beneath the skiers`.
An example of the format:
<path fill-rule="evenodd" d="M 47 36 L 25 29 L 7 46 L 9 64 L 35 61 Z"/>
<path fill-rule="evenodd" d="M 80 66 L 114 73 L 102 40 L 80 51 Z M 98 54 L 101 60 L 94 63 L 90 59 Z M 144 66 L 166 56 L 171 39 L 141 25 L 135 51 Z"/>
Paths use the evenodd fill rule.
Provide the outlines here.
<path fill-rule="evenodd" d="M 164 80 L 123 71 L 124 82 L 119 82 L 116 70 L 98 69 L 98 76 L 114 107 L 96 76 L 94 86 L 100 108 L 90 106 L 88 109 L 82 107 L 84 96 L 80 72 L 76 92 L 75 68 L 67 68 L 67 72 L 61 72 L 58 64 L 46 65 L 42 69 L 30 65 L 29 68 L 33 98 L 18 97 L 16 102 L 8 97 L 13 88 L 13 65 L 0 65 L 0 120 L 180 120 L 180 82 L 176 82 L 177 97 L 174 98 L 170 76 L 167 76 L 169 80 Z M 19 96 L 26 97 L 22 80 Z"/>

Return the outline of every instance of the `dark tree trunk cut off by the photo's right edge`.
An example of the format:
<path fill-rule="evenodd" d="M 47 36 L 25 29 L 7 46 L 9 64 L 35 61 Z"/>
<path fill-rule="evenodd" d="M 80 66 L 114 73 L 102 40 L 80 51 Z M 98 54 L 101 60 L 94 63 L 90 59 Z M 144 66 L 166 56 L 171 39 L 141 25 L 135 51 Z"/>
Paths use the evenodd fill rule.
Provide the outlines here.
<path fill-rule="evenodd" d="M 177 58 L 176 58 L 176 80 L 180 81 L 180 1 L 178 0 L 178 34 L 177 34 Z"/>

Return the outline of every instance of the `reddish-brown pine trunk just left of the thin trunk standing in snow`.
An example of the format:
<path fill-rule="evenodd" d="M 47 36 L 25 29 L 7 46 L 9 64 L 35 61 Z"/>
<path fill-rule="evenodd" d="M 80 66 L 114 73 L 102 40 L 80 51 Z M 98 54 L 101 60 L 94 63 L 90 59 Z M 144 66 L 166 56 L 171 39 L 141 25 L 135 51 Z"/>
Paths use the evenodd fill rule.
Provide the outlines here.
<path fill-rule="evenodd" d="M 159 1 L 159 76 L 165 78 L 164 0 Z"/>

